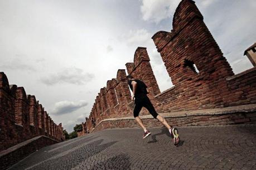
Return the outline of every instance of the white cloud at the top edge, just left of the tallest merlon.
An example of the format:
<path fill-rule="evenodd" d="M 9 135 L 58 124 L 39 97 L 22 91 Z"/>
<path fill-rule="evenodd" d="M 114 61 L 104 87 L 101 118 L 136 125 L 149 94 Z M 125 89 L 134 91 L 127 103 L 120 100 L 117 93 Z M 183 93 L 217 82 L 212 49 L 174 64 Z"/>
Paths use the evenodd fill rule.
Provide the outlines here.
<path fill-rule="evenodd" d="M 141 12 L 144 21 L 159 23 L 173 16 L 180 0 L 142 0 Z"/>

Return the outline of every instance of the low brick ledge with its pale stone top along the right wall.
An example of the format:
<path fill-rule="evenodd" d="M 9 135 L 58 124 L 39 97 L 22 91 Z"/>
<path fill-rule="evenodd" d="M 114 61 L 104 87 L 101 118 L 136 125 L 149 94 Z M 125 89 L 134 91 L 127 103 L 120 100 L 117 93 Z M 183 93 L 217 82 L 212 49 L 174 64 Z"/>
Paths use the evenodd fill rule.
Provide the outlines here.
<path fill-rule="evenodd" d="M 178 111 L 172 113 L 160 113 L 169 124 L 178 126 L 193 125 L 228 125 L 228 124 L 255 124 L 256 123 L 256 105 L 231 106 L 228 108 L 204 109 L 192 111 Z M 141 116 L 146 127 L 161 127 L 162 124 L 151 115 Z M 98 132 L 103 129 L 112 128 L 139 128 L 138 123 L 132 116 L 124 118 L 110 118 L 100 122 L 95 129 L 91 131 Z"/>

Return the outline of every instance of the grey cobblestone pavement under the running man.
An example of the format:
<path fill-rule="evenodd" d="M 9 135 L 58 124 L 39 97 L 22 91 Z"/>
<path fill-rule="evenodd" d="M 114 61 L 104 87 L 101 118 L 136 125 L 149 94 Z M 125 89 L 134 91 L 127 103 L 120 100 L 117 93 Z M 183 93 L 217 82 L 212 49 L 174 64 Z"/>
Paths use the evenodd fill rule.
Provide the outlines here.
<path fill-rule="evenodd" d="M 9 169 L 256 169 L 256 125 L 111 129 L 50 145 Z"/>

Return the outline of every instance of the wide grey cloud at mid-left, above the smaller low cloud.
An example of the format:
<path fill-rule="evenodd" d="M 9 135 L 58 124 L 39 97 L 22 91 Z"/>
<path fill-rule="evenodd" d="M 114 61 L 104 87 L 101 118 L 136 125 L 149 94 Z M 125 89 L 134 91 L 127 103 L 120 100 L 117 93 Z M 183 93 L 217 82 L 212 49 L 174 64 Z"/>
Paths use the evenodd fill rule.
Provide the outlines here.
<path fill-rule="evenodd" d="M 94 78 L 93 74 L 83 72 L 82 69 L 71 67 L 62 69 L 56 74 L 51 74 L 48 77 L 42 77 L 41 81 L 46 85 L 54 85 L 59 83 L 68 83 L 75 85 L 83 85 Z"/>

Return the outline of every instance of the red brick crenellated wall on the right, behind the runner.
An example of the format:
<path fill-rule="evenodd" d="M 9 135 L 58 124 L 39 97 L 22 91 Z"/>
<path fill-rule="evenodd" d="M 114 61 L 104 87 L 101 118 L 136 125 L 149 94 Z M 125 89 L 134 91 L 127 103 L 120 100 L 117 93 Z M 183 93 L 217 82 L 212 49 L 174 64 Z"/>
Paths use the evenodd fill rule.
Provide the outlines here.
<path fill-rule="evenodd" d="M 148 96 L 158 113 L 256 103 L 256 67 L 234 75 L 194 1 L 182 0 L 171 32 L 158 31 L 152 39 L 174 86 L 160 93 L 145 47 L 138 47 L 134 62 L 125 66 L 129 75 L 148 86 Z M 125 70 L 118 70 L 117 77 L 100 89 L 86 120 L 88 132 L 94 129 L 93 118 L 98 125 L 104 119 L 133 116 L 134 104 L 125 76 Z M 142 110 L 143 114 L 148 111 Z"/>

